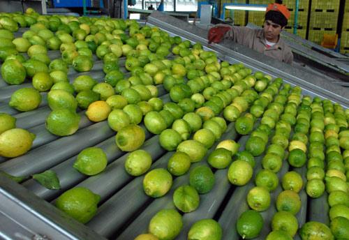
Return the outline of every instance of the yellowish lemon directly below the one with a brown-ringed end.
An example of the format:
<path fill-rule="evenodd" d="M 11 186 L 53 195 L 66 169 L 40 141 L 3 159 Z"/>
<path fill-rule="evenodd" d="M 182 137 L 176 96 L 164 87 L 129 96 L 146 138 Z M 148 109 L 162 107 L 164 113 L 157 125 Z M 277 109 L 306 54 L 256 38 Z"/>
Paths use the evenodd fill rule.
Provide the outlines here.
<path fill-rule="evenodd" d="M 149 170 L 152 161 L 147 151 L 138 149 L 127 156 L 125 170 L 132 176 L 140 176 Z"/>

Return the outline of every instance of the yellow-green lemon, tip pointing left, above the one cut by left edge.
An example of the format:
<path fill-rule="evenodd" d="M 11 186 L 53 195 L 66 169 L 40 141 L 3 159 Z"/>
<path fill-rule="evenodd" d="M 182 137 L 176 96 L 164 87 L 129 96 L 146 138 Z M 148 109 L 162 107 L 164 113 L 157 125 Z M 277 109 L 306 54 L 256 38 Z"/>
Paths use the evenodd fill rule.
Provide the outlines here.
<path fill-rule="evenodd" d="M 25 87 L 18 89 L 11 95 L 8 105 L 16 110 L 27 112 L 38 108 L 41 103 L 41 95 L 38 90 Z"/>

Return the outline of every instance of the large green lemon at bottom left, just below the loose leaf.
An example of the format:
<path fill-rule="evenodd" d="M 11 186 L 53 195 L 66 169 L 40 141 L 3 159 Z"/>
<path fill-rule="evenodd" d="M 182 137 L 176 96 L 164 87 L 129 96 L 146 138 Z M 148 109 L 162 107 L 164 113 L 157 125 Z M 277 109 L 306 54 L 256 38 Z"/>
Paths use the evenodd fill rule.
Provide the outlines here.
<path fill-rule="evenodd" d="M 57 198 L 56 207 L 81 223 L 87 223 L 97 212 L 101 197 L 91 190 L 76 187 L 66 190 Z"/>

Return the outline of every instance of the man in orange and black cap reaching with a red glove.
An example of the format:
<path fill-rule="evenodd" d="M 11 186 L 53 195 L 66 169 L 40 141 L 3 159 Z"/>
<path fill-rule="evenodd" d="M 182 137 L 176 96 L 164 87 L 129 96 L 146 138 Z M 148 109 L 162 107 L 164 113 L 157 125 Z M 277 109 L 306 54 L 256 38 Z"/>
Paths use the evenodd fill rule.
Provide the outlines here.
<path fill-rule="evenodd" d="M 269 57 L 291 64 L 293 61 L 291 49 L 280 37 L 289 18 L 290 12 L 286 6 L 270 3 L 265 13 L 263 29 L 218 24 L 209 29 L 208 40 L 209 43 L 220 43 L 223 39 L 230 39 Z"/>

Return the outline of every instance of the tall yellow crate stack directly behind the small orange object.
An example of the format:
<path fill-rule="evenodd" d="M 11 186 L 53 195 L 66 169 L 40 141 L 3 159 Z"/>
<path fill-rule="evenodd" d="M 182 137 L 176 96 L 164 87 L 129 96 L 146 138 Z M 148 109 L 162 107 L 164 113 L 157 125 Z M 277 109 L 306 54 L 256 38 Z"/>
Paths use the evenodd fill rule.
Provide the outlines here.
<path fill-rule="evenodd" d="M 324 34 L 336 34 L 340 0 L 312 0 L 308 39 L 321 44 Z"/>

